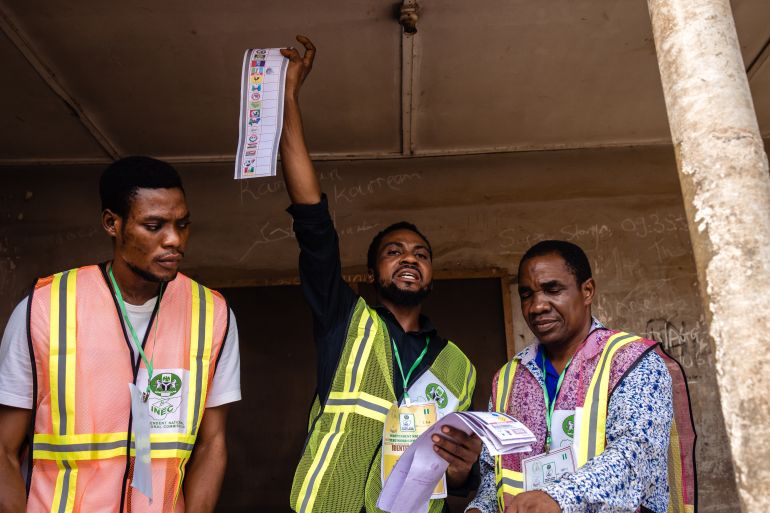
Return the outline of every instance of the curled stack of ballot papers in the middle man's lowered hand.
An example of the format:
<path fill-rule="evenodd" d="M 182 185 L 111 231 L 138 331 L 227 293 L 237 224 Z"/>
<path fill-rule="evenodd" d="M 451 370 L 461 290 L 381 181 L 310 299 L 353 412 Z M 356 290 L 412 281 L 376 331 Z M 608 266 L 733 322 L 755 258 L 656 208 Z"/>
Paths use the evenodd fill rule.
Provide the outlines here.
<path fill-rule="evenodd" d="M 527 452 L 535 435 L 510 415 L 497 412 L 455 412 L 420 435 L 404 452 L 388 476 L 377 507 L 390 513 L 426 513 L 433 488 L 449 463 L 433 450 L 431 437 L 450 426 L 476 433 L 493 456 Z"/>

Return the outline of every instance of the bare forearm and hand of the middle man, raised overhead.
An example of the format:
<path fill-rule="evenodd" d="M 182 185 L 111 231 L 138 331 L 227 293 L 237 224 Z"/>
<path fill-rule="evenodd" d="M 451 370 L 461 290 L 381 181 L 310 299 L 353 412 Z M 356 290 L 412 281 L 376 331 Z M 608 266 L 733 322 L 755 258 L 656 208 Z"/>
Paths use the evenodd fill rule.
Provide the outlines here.
<path fill-rule="evenodd" d="M 281 54 L 289 59 L 283 107 L 281 167 L 291 202 L 295 205 L 315 205 L 321 201 L 321 184 L 305 145 L 299 109 L 299 90 L 313 67 L 315 46 L 305 36 L 297 36 L 297 41 L 305 47 L 304 55 L 300 55 L 295 48 L 281 50 Z"/>

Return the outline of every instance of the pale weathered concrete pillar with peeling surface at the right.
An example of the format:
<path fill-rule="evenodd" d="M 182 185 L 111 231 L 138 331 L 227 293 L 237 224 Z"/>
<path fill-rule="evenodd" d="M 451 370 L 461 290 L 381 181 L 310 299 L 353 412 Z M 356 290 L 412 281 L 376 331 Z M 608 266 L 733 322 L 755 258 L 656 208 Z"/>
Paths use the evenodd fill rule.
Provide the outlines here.
<path fill-rule="evenodd" d="M 648 0 L 736 481 L 770 511 L 770 175 L 729 0 Z M 727 485 L 727 483 L 725 483 Z"/>

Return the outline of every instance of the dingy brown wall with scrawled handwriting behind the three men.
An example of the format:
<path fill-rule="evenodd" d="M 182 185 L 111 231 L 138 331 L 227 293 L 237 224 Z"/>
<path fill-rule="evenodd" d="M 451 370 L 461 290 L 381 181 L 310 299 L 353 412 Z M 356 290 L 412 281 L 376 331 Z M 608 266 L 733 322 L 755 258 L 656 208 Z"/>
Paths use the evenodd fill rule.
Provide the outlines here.
<path fill-rule="evenodd" d="M 670 148 L 321 162 L 318 169 L 352 275 L 363 271 L 376 231 L 401 219 L 429 236 L 439 274 L 512 275 L 542 238 L 581 245 L 598 285 L 595 314 L 662 342 L 688 373 L 700 511 L 738 510 Z M 0 169 L 0 321 L 35 276 L 109 258 L 98 224 L 100 171 Z M 193 218 L 188 273 L 214 286 L 293 282 L 297 249 L 280 178 L 235 182 L 227 165 L 180 171 Z M 525 334 L 519 312 L 514 330 Z"/>

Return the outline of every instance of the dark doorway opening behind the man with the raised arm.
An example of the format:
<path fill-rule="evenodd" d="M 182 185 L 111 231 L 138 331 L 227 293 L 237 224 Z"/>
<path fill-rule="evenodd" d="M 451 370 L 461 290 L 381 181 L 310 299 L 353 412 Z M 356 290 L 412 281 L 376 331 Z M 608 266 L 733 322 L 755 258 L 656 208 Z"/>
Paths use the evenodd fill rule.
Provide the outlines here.
<path fill-rule="evenodd" d="M 372 299 L 372 289 L 360 293 Z M 217 511 L 286 512 L 315 390 L 310 310 L 297 286 L 223 289 L 240 336 L 243 400 L 228 426 L 229 461 Z M 486 409 L 506 360 L 498 278 L 437 280 L 424 311 L 476 366 L 475 409 Z M 468 499 L 452 499 L 452 512 Z"/>

